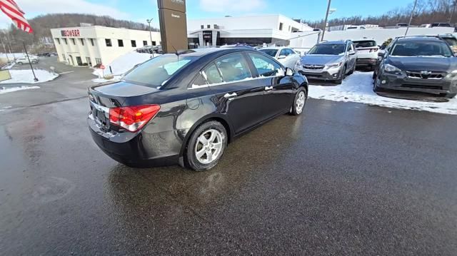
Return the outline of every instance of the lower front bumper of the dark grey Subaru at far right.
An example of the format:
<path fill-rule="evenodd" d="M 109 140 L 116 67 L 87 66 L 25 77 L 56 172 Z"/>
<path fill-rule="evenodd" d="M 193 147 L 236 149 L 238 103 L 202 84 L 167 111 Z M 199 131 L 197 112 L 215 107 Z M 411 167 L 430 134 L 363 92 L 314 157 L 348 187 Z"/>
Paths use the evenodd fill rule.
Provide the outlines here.
<path fill-rule="evenodd" d="M 444 94 L 457 93 L 456 81 L 448 81 L 444 78 L 418 79 L 408 78 L 406 75 L 382 73 L 376 80 L 376 86 L 389 90 L 416 91 L 422 93 Z"/>

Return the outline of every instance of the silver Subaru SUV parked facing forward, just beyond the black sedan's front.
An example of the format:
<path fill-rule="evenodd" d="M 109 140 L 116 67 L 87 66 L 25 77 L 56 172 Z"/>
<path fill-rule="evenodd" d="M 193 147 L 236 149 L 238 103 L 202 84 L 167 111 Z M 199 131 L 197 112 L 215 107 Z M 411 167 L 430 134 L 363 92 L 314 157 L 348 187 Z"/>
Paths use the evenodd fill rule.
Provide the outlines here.
<path fill-rule="evenodd" d="M 352 41 L 316 44 L 295 64 L 295 70 L 310 79 L 335 81 L 356 71 L 356 49 Z"/>

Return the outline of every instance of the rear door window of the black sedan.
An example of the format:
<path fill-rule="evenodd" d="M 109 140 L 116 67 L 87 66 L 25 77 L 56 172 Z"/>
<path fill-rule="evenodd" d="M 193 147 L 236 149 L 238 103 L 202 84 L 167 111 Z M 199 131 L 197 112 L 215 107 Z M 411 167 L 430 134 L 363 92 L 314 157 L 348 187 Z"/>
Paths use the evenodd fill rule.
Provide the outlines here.
<path fill-rule="evenodd" d="M 246 78 L 251 78 L 246 59 L 241 53 L 230 54 L 216 60 L 216 66 L 221 71 L 222 79 L 226 83 L 241 81 Z"/>

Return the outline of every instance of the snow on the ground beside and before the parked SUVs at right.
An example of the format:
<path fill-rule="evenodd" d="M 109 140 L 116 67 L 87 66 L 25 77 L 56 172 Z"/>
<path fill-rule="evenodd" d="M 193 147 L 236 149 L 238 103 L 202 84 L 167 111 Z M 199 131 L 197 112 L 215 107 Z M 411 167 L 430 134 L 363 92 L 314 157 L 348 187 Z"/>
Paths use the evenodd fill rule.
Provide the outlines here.
<path fill-rule="evenodd" d="M 452 98 L 448 102 L 426 102 L 378 96 L 373 92 L 372 76 L 373 72 L 355 72 L 348 76 L 339 86 L 311 85 L 309 97 L 457 115 L 457 98 Z"/>

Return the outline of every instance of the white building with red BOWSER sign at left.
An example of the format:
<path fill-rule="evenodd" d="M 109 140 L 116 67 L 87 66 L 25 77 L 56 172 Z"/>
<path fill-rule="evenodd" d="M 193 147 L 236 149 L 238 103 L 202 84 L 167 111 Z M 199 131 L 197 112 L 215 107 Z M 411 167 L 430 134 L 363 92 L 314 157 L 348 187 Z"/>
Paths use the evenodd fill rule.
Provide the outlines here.
<path fill-rule="evenodd" d="M 81 24 L 82 25 L 82 24 Z M 159 32 L 116 29 L 106 26 L 78 26 L 51 29 L 59 61 L 74 66 L 111 63 L 115 58 L 146 45 L 159 45 Z"/>

